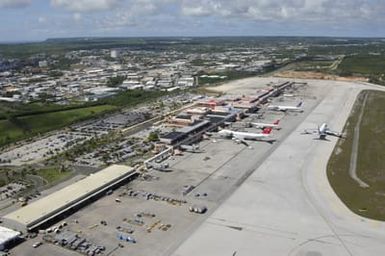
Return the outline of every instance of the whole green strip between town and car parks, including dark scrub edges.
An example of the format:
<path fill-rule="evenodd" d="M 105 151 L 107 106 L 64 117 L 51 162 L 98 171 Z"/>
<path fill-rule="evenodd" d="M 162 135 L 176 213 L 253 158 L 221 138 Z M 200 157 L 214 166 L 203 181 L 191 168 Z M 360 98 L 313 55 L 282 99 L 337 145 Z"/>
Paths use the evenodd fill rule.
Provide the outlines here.
<path fill-rule="evenodd" d="M 101 99 L 92 105 L 0 103 L 0 146 L 96 118 L 106 112 L 150 102 L 165 94 L 161 91 L 131 90 Z"/>

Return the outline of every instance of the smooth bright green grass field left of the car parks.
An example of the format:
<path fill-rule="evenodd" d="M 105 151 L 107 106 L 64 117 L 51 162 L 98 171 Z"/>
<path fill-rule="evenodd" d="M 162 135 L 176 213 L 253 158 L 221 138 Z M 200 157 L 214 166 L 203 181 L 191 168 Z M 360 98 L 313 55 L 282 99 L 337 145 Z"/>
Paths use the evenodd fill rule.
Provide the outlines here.
<path fill-rule="evenodd" d="M 115 109 L 117 107 L 112 105 L 100 105 L 0 120 L 0 145 L 59 129 Z"/>

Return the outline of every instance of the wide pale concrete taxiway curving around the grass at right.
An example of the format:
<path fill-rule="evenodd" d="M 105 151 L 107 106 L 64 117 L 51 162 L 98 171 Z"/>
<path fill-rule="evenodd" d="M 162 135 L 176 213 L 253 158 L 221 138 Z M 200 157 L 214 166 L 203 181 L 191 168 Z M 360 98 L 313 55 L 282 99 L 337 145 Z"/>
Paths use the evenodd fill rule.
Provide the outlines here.
<path fill-rule="evenodd" d="M 309 84 L 324 86 L 327 96 L 174 256 L 385 255 L 385 223 L 350 212 L 329 185 L 326 165 L 337 138 L 301 135 L 323 122 L 342 130 L 359 92 L 384 88 Z"/>

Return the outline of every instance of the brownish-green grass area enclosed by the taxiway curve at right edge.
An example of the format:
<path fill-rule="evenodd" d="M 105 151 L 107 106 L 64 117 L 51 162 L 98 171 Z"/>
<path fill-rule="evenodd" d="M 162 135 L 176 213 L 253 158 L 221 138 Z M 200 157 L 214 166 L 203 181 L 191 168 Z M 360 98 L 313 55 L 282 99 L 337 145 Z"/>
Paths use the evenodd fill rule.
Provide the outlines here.
<path fill-rule="evenodd" d="M 358 121 L 364 93 L 368 98 L 360 126 L 357 175 L 369 188 L 363 188 L 349 175 L 353 131 Z M 385 220 L 385 93 L 362 92 L 344 132 L 328 163 L 328 178 L 334 191 L 354 213 Z"/>

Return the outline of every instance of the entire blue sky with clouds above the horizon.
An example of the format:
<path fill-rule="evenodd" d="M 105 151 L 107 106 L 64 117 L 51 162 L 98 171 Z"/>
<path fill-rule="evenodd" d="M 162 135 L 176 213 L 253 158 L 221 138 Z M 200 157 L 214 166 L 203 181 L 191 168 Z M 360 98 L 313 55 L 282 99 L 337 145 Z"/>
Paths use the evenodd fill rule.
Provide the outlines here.
<path fill-rule="evenodd" d="M 385 0 L 0 0 L 0 41 L 64 37 L 385 37 Z"/>

